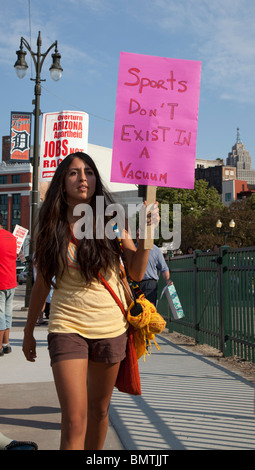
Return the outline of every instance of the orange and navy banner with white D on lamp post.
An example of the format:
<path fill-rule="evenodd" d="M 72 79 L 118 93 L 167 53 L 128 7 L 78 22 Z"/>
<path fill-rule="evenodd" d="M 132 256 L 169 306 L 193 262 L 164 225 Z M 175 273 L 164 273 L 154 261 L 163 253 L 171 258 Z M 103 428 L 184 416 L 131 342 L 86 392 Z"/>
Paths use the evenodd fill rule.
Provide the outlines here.
<path fill-rule="evenodd" d="M 30 158 L 32 113 L 11 112 L 10 160 L 28 162 Z"/>

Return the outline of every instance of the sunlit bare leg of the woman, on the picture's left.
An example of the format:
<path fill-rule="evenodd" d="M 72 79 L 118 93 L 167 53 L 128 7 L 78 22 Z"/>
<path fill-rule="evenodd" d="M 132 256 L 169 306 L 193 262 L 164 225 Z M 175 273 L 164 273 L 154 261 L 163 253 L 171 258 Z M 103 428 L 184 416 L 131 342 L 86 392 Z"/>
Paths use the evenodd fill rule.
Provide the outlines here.
<path fill-rule="evenodd" d="M 87 359 L 52 366 L 62 411 L 60 450 L 84 450 L 87 429 Z"/>

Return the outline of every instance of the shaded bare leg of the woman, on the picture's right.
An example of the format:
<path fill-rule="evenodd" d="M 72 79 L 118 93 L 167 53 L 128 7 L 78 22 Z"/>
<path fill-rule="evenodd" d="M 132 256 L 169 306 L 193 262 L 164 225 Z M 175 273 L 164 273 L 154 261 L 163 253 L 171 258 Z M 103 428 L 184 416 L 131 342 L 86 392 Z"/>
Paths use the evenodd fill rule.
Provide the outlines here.
<path fill-rule="evenodd" d="M 119 363 L 105 364 L 89 361 L 86 450 L 103 449 L 108 429 L 108 411 L 119 366 Z"/>

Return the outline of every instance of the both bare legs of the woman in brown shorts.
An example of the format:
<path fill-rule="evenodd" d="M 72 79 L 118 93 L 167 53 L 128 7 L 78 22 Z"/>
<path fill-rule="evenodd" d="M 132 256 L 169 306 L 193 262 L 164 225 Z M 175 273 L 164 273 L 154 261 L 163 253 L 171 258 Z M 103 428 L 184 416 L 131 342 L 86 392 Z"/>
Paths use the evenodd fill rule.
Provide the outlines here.
<path fill-rule="evenodd" d="M 101 450 L 108 429 L 108 410 L 119 363 L 87 359 L 52 366 L 62 411 L 60 450 Z"/>

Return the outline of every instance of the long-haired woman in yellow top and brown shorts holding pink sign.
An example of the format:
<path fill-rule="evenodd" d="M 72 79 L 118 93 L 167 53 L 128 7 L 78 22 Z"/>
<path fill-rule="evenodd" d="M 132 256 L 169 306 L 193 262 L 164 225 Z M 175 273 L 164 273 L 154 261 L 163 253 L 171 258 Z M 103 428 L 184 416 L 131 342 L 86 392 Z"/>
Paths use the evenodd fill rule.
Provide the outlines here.
<path fill-rule="evenodd" d="M 96 196 L 104 197 L 104 207 L 111 202 L 93 160 L 81 152 L 70 154 L 56 170 L 39 218 L 35 249 L 38 275 L 23 351 L 28 361 L 35 361 L 33 330 L 55 277 L 48 343 L 62 411 L 62 450 L 103 448 L 110 399 L 126 350 L 128 325 L 99 278 L 99 272 L 103 273 L 125 305 L 119 279 L 120 248 L 117 239 L 109 239 L 105 230 L 103 237 L 96 237 Z M 79 204 L 92 213 L 91 238 L 74 236 L 75 224 L 81 220 L 75 215 Z M 155 206 L 152 222 L 157 224 L 158 219 Z M 103 220 L 106 228 L 109 221 Z M 130 276 L 139 281 L 149 250 L 144 249 L 144 240 L 135 248 L 124 228 L 121 238 Z"/>

